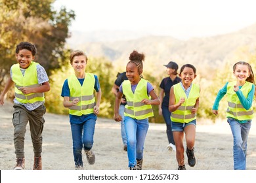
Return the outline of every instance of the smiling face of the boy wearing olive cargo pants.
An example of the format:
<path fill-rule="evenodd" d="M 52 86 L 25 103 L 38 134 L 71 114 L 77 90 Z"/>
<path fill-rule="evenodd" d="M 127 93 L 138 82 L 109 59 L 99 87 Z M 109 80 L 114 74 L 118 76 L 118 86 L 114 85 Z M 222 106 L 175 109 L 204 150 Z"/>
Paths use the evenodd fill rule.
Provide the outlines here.
<path fill-rule="evenodd" d="M 27 69 L 30 67 L 31 62 L 35 57 L 32 55 L 30 50 L 22 49 L 16 54 L 16 59 L 18 64 L 20 64 L 20 68 Z"/>

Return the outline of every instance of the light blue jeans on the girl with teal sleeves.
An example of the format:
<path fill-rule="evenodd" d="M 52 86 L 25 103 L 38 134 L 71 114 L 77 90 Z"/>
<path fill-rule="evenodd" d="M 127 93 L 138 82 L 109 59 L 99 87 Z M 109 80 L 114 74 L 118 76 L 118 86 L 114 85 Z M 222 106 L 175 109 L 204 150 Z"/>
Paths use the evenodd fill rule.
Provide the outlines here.
<path fill-rule="evenodd" d="M 240 124 L 233 118 L 228 118 L 234 144 L 233 144 L 233 156 L 234 156 L 234 169 L 245 170 L 246 169 L 246 150 L 247 139 L 249 130 L 251 128 L 251 120 L 248 120 L 244 124 Z"/>

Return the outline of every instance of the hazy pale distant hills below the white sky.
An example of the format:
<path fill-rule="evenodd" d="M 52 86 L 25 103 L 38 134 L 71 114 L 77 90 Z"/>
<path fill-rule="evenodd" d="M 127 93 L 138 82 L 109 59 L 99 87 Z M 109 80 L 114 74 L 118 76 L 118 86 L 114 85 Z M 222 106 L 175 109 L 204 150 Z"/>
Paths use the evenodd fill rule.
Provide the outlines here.
<path fill-rule="evenodd" d="M 74 32 L 68 44 L 72 48 L 85 50 L 89 56 L 104 56 L 116 65 L 126 65 L 133 50 L 144 52 L 145 67 L 156 68 L 154 71 L 159 73 L 165 69 L 163 64 L 171 60 L 177 61 L 179 65 L 192 63 L 196 67 L 215 68 L 219 66 L 217 63 L 222 63 L 226 57 L 244 46 L 255 52 L 256 24 L 234 33 L 193 38 L 188 41 L 153 35 L 141 37 L 130 32 Z"/>

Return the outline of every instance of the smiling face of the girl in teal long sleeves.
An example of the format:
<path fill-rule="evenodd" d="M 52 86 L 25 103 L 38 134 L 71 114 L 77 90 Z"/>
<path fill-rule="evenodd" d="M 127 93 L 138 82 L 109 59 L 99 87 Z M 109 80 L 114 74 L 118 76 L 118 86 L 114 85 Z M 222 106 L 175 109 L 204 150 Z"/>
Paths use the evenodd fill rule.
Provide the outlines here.
<path fill-rule="evenodd" d="M 238 80 L 238 82 L 244 84 L 245 80 L 249 77 L 249 68 L 247 65 L 238 64 L 236 65 L 236 69 L 233 71 L 234 76 Z"/>

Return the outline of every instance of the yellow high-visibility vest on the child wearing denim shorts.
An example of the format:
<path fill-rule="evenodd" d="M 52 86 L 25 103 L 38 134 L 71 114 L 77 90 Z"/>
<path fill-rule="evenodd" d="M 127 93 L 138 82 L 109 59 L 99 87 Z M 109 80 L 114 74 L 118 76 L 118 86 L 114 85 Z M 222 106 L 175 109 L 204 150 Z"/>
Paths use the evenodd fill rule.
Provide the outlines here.
<path fill-rule="evenodd" d="M 181 97 L 185 98 L 185 102 L 177 108 L 177 110 L 171 112 L 171 121 L 178 123 L 188 123 L 192 120 L 196 120 L 196 114 L 191 114 L 191 109 L 194 108 L 196 104 L 196 99 L 200 96 L 200 86 L 197 84 L 192 84 L 192 88 L 188 97 L 184 92 L 181 83 L 173 85 L 173 91 L 175 94 L 175 103 L 178 103 Z"/>

